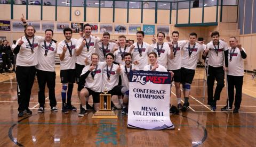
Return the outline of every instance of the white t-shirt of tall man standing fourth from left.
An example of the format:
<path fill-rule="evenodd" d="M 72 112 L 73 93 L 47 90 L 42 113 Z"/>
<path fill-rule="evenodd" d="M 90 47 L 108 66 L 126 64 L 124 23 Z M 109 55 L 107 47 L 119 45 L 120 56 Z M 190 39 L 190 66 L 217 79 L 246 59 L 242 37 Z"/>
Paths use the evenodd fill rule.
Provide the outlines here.
<path fill-rule="evenodd" d="M 81 37 L 81 38 L 79 38 L 79 39 L 77 40 L 76 49 L 78 49 L 78 48 L 81 46 L 81 44 L 82 44 L 83 41 L 84 41 L 84 38 L 83 38 L 83 37 Z M 87 43 L 89 44 L 90 38 L 86 38 L 86 41 L 87 41 Z M 87 57 L 88 61 L 91 62 L 92 53 L 95 52 L 95 49 L 94 49 L 95 42 L 98 42 L 98 41 L 100 41 L 100 38 L 99 38 L 99 37 L 95 38 L 95 37 L 91 36 L 89 51 L 87 52 L 87 47 L 86 47 L 86 45 L 85 45 L 85 46 L 83 47 L 83 49 L 82 49 L 81 54 L 76 57 L 76 63 L 77 63 L 77 64 L 85 65 L 84 60 L 85 60 L 86 57 Z"/>

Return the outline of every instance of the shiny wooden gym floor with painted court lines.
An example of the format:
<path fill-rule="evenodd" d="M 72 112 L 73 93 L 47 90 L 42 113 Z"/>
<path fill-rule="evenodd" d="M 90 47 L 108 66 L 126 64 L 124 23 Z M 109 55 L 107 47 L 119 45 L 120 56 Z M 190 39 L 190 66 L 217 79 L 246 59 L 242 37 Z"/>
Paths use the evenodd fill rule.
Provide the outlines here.
<path fill-rule="evenodd" d="M 203 100 L 203 68 L 198 68 L 191 85 L 190 109 L 171 115 L 174 130 L 147 131 L 127 128 L 127 116 L 115 111 L 118 119 L 92 119 L 93 111 L 78 117 L 77 111 L 61 113 L 59 67 L 55 95 L 58 113 L 51 113 L 46 98 L 45 113 L 38 114 L 38 84 L 35 84 L 29 108 L 33 115 L 18 118 L 17 82 L 14 73 L 0 75 L 0 146 L 256 146 L 256 81 L 245 74 L 239 114 L 221 112 L 226 105 L 223 88 L 215 112 Z M 47 89 L 47 88 L 46 88 Z M 77 85 L 72 102 L 79 108 Z M 176 105 L 172 88 L 171 102 Z M 46 90 L 47 97 L 47 90 Z"/>

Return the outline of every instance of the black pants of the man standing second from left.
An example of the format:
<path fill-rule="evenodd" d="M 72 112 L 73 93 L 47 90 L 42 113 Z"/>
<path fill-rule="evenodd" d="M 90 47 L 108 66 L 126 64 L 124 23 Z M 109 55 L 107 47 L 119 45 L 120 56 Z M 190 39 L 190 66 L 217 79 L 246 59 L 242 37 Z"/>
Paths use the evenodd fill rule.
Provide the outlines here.
<path fill-rule="evenodd" d="M 50 100 L 50 106 L 55 107 L 57 105 L 57 101 L 55 98 L 55 79 L 56 79 L 56 73 L 55 72 L 47 72 L 47 71 L 41 71 L 37 70 L 37 81 L 39 86 L 38 91 L 38 102 L 39 107 L 44 108 L 45 104 L 45 84 L 47 84 L 47 88 L 49 89 L 49 100 Z"/>

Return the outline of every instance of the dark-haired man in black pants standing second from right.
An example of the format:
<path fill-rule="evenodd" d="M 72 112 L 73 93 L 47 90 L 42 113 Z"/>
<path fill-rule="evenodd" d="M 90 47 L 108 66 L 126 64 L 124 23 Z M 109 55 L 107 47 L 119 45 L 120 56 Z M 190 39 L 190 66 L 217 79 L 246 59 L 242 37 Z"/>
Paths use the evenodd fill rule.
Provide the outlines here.
<path fill-rule="evenodd" d="M 225 74 L 223 69 L 223 62 L 226 62 L 226 67 L 224 68 L 227 69 L 228 67 L 228 45 L 226 42 L 223 42 L 219 39 L 220 34 L 217 31 L 212 32 L 211 37 L 212 41 L 207 44 L 207 48 L 204 50 L 203 58 L 206 58 L 209 54 L 209 67 L 207 75 L 207 104 L 211 106 L 211 110 L 215 111 L 216 102 L 217 100 L 220 100 L 220 93 L 224 87 Z M 223 57 L 223 51 L 225 57 Z M 213 86 L 215 80 L 217 81 L 217 87 L 213 96 Z"/>

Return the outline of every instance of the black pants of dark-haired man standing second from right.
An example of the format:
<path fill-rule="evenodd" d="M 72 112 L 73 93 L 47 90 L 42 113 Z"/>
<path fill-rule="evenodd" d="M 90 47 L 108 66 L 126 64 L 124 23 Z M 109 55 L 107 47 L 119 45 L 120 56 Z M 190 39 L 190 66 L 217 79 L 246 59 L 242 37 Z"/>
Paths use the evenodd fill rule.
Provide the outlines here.
<path fill-rule="evenodd" d="M 214 81 L 217 81 L 217 87 L 213 96 Z M 223 67 L 212 67 L 209 65 L 207 75 L 207 94 L 208 105 L 216 105 L 216 101 L 220 100 L 220 93 L 224 87 L 224 70 Z"/>

